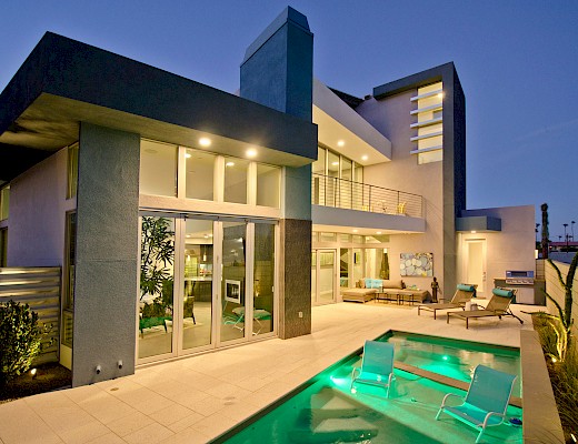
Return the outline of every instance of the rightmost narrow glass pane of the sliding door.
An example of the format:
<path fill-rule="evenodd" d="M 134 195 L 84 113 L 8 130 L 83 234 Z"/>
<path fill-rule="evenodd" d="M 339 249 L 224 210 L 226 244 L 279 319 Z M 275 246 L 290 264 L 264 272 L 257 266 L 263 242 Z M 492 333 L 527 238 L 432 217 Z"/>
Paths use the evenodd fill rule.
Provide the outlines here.
<path fill-rule="evenodd" d="M 253 325 L 255 335 L 273 331 L 275 225 L 255 224 Z"/>

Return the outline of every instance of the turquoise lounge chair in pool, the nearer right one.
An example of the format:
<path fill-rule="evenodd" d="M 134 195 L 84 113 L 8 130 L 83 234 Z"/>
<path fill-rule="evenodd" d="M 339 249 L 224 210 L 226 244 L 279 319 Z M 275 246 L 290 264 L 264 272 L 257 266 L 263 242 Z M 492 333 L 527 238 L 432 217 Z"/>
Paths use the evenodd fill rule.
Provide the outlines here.
<path fill-rule="evenodd" d="M 514 389 L 515 375 L 500 372 L 484 365 L 478 365 L 474 371 L 474 377 L 464 398 L 458 406 L 446 404 L 451 396 L 461 397 L 454 393 L 444 396 L 436 420 L 441 412 L 454 416 L 456 420 L 480 431 L 476 443 L 479 443 L 486 427 L 500 425 L 506 417 L 506 410 Z"/>

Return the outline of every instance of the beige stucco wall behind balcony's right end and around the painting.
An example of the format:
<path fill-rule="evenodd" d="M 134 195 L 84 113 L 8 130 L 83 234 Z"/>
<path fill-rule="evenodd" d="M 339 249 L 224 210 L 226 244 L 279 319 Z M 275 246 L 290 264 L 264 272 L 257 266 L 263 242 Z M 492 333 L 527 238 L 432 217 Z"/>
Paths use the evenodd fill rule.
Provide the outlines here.
<path fill-rule="evenodd" d="M 440 289 L 445 287 L 444 265 L 444 183 L 442 162 L 418 164 L 417 157 L 409 152 L 415 149 L 410 142 L 413 135 L 410 129 L 410 111 L 413 104 L 410 98 L 417 90 L 406 91 L 385 100 L 366 100 L 357 111 L 376 129 L 382 132 L 392 147 L 392 161 L 366 167 L 365 182 L 378 186 L 419 194 L 425 201 L 423 215 L 426 233 L 393 234 L 390 236 L 389 258 L 391 279 L 399 279 L 399 254 L 411 252 L 434 253 L 434 274 Z M 454 236 L 454 234 L 452 234 Z M 451 253 L 451 252 L 448 252 Z M 430 278 L 408 278 L 410 285 L 429 290 Z"/>

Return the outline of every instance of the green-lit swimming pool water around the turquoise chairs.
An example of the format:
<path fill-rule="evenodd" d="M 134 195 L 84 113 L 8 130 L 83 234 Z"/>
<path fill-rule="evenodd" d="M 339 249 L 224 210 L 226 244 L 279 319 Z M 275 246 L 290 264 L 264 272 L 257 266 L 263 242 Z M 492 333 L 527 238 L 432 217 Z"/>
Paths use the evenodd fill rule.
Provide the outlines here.
<path fill-rule="evenodd" d="M 427 353 L 419 350 L 418 343 L 427 346 L 452 347 L 462 345 L 470 356 L 486 360 L 491 366 L 490 354 L 501 354 L 502 347 L 468 343 L 439 337 L 408 335 L 389 332 L 380 340 L 396 344 L 396 360 L 403 357 L 405 342 L 417 357 L 406 354 L 409 362 L 425 363 Z M 431 339 L 431 343 L 427 340 Z M 418 339 L 418 341 L 416 341 Z M 449 341 L 449 342 L 446 342 Z M 476 351 L 481 346 L 481 350 Z M 416 353 L 419 351 L 419 353 Z M 459 351 L 459 350 L 458 350 Z M 511 350 L 508 353 L 514 352 Z M 401 354 L 399 354 L 401 353 Z M 438 354 L 431 352 L 432 354 Z M 481 353 L 479 357 L 476 353 Z M 508 354 L 507 353 L 507 354 Z M 458 353 L 459 354 L 459 353 Z M 447 353 L 448 356 L 454 356 Z M 419 360 L 418 360 L 419 357 Z M 467 365 L 465 355 L 459 366 Z M 418 362 L 420 361 L 420 362 Z M 446 361 L 446 360 L 442 360 Z M 448 360 L 448 361 L 452 361 Z M 427 377 L 396 369 L 396 381 L 390 397 L 385 398 L 380 387 L 360 385 L 356 393 L 350 392 L 351 371 L 360 362 L 359 354 L 352 354 L 302 384 L 288 396 L 280 400 L 266 412 L 257 414 L 238 425 L 216 443 L 465 443 L 474 442 L 477 432 L 450 417 L 435 421 L 436 413 L 446 393 L 465 394 L 459 389 L 440 384 Z M 498 360 L 501 365 L 501 360 Z M 518 364 L 519 366 L 519 364 Z M 442 371 L 442 367 L 440 367 Z M 465 370 L 467 372 L 467 370 Z M 521 417 L 521 408 L 509 406 L 508 415 Z M 485 442 L 521 443 L 521 427 L 502 425 L 489 428 Z"/>

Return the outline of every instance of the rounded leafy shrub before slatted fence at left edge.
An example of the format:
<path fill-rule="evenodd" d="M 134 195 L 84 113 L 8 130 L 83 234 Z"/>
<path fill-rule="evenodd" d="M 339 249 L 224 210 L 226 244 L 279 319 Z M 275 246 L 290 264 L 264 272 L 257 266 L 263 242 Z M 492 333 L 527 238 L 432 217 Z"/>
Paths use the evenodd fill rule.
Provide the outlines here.
<path fill-rule="evenodd" d="M 42 351 L 44 334 L 28 304 L 0 304 L 0 386 L 30 369 Z"/>

